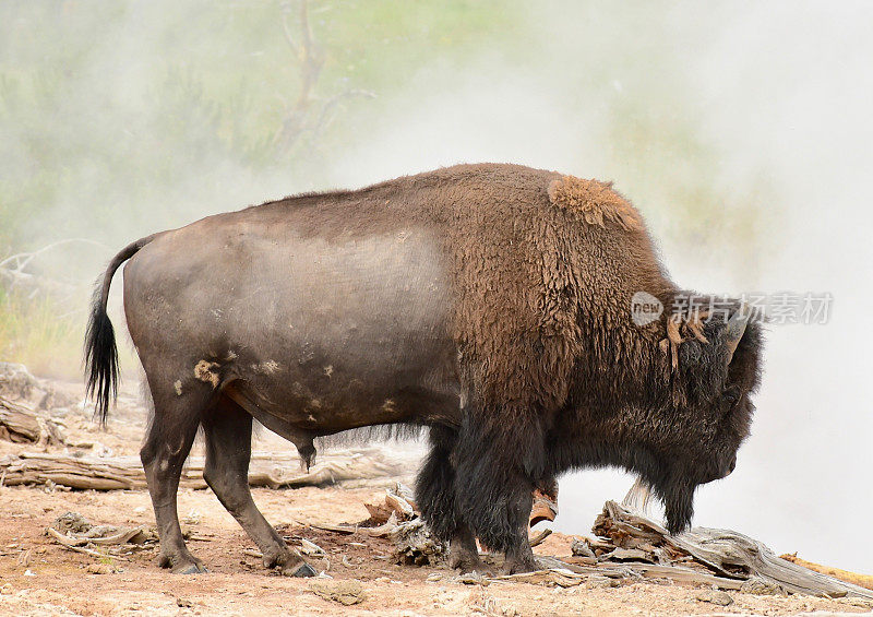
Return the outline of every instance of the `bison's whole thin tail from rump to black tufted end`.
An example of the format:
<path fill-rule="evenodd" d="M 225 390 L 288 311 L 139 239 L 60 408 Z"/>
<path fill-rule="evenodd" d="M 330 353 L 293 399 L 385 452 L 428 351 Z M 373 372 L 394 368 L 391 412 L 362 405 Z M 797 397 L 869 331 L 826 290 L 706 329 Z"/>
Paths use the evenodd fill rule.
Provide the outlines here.
<path fill-rule="evenodd" d="M 94 414 L 106 423 L 109 413 L 109 401 L 115 401 L 118 392 L 118 347 L 112 322 L 106 312 L 109 299 L 109 285 L 118 266 L 132 258 L 136 251 L 155 239 L 157 234 L 141 238 L 124 247 L 112 258 L 103 278 L 97 280 L 94 299 L 91 305 L 91 318 L 85 331 L 85 392 L 95 403 Z"/>

